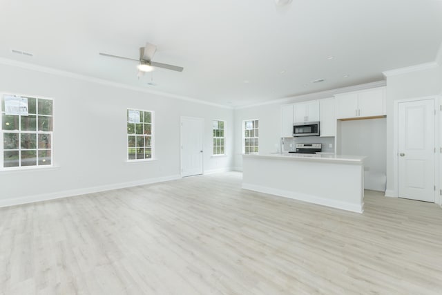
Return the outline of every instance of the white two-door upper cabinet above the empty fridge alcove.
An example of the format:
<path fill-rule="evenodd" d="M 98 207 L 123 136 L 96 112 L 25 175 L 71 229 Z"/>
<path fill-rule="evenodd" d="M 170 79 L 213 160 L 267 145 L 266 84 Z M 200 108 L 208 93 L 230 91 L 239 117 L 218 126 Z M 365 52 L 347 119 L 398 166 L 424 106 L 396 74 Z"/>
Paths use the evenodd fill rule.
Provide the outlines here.
<path fill-rule="evenodd" d="M 385 88 L 335 95 L 336 118 L 375 117 L 386 114 Z"/>

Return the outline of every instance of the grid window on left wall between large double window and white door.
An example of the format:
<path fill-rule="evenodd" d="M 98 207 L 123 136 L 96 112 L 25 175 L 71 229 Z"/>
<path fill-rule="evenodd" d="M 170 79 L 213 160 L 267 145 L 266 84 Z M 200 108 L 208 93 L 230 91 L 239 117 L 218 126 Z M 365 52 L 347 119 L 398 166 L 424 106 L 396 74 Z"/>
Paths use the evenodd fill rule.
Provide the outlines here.
<path fill-rule="evenodd" d="M 127 110 L 127 159 L 153 158 L 153 111 Z"/>

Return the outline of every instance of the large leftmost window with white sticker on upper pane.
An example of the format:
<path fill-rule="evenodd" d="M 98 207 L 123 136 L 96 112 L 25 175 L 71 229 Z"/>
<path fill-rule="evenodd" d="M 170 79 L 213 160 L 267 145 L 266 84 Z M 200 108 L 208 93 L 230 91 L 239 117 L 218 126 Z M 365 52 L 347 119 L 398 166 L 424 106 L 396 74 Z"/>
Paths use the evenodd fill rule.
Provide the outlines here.
<path fill-rule="evenodd" d="M 3 168 L 52 165 L 52 99 L 2 95 Z"/>

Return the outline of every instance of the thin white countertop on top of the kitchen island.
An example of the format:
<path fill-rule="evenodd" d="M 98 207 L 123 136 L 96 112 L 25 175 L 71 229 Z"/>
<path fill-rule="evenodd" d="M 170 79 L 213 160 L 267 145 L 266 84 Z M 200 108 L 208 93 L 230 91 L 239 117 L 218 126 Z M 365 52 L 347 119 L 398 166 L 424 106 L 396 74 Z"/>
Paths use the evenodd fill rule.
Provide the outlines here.
<path fill-rule="evenodd" d="M 243 154 L 247 158 L 269 158 L 280 160 L 307 160 L 318 162 L 340 162 L 342 164 L 363 164 L 365 155 L 336 155 L 330 153 L 260 153 Z"/>

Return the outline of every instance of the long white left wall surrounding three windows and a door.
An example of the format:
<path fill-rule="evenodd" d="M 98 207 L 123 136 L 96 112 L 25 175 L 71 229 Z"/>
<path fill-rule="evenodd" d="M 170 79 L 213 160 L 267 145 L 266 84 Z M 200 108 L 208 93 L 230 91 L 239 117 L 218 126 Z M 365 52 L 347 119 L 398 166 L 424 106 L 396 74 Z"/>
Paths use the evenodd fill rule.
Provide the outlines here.
<path fill-rule="evenodd" d="M 55 168 L 0 171 L 0 206 L 180 175 L 180 117 L 205 120 L 204 173 L 233 164 L 233 110 L 0 65 L 2 93 L 54 99 Z M 126 108 L 155 111 L 155 161 L 126 162 Z M 212 157 L 212 120 L 227 121 L 227 156 Z"/>

